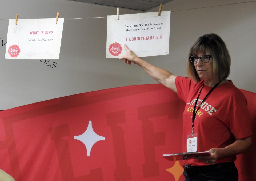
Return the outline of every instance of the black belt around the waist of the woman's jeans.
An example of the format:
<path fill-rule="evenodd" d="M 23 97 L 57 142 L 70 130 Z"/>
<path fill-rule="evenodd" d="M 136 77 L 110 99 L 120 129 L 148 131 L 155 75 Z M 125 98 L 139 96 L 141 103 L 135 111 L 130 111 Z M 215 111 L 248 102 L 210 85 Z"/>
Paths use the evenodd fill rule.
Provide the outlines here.
<path fill-rule="evenodd" d="M 231 169 L 235 167 L 234 162 L 226 162 L 226 163 L 219 163 L 214 165 L 206 165 L 206 166 L 190 166 L 184 165 L 184 171 L 186 175 L 199 175 L 199 174 L 206 174 L 215 169 Z"/>

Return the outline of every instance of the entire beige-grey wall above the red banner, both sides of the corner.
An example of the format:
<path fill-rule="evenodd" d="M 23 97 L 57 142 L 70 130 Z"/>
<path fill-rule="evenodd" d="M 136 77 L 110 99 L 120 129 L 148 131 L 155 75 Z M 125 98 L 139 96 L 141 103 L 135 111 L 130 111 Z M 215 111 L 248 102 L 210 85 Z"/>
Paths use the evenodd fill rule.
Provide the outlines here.
<path fill-rule="evenodd" d="M 219 6 L 238 2 L 244 1 L 174 0 L 163 5 L 163 11 L 172 11 L 170 54 L 145 60 L 186 76 L 191 45 L 205 33 L 217 33 L 232 58 L 229 78 L 238 88 L 256 92 L 256 2 Z M 158 7 L 148 12 L 153 11 Z M 56 12 L 60 18 L 85 18 L 115 15 L 117 9 L 67 0 L 9 0 L 1 1 L 0 19 L 15 18 L 16 13 L 20 19 L 54 18 Z M 6 46 L 0 46 L 0 110 L 99 89 L 156 83 L 138 66 L 105 58 L 106 25 L 107 18 L 64 20 L 56 69 L 33 60 L 5 59 Z M 0 42 L 5 43 L 7 29 L 8 20 L 0 20 Z"/>

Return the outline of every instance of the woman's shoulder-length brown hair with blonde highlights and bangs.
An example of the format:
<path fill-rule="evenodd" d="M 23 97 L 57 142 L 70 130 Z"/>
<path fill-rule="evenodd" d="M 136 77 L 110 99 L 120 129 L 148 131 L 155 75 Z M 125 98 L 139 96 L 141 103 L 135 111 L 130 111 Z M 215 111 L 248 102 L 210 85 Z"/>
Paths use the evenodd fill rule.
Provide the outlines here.
<path fill-rule="evenodd" d="M 209 53 L 213 61 L 213 74 L 220 81 L 223 77 L 227 78 L 230 74 L 230 55 L 224 41 L 216 34 L 206 34 L 197 39 L 191 47 L 189 57 L 197 53 Z M 194 63 L 187 59 L 187 75 L 196 83 L 200 78 L 195 70 Z"/>

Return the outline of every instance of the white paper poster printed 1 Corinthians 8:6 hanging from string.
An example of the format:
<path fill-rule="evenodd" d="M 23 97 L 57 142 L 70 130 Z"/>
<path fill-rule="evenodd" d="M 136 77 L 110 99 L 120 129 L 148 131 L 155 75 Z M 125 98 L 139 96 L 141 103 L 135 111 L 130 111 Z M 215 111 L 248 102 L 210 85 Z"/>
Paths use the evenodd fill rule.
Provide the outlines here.
<path fill-rule="evenodd" d="M 169 54 L 171 11 L 107 16 L 106 57 L 126 54 L 126 44 L 138 57 Z"/>

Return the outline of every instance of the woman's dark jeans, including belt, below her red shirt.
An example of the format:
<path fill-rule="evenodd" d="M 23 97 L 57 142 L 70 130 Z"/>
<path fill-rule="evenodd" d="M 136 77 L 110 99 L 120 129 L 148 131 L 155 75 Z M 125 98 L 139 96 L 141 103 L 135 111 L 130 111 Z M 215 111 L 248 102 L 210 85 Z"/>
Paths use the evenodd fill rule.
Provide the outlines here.
<path fill-rule="evenodd" d="M 210 165 L 209 171 L 203 169 L 202 172 L 186 175 L 185 171 L 183 175 L 185 181 L 238 181 L 238 171 L 235 165 L 231 164 L 229 167 L 226 165 L 222 167 L 222 164 L 217 164 L 216 166 Z M 207 166 L 204 166 L 207 168 Z"/>

